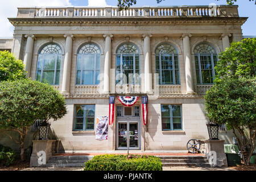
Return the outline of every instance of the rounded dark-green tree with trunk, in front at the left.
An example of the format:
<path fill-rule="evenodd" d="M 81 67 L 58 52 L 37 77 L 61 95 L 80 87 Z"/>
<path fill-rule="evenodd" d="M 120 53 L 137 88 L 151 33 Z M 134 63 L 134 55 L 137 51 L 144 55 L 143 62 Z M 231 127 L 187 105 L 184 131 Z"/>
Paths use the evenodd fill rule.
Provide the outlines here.
<path fill-rule="evenodd" d="M 24 140 L 36 120 L 56 121 L 67 113 L 63 96 L 52 86 L 30 79 L 0 82 L 0 130 L 20 147 L 24 160 Z M 15 131 L 19 138 L 7 131 Z"/>

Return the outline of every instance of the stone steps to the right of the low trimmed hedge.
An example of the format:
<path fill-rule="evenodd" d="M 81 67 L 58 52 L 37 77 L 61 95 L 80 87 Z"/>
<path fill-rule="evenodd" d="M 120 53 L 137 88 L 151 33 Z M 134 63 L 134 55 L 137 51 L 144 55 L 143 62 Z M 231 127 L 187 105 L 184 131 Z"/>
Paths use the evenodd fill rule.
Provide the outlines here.
<path fill-rule="evenodd" d="M 164 167 L 210 167 L 205 156 L 158 156 Z"/>

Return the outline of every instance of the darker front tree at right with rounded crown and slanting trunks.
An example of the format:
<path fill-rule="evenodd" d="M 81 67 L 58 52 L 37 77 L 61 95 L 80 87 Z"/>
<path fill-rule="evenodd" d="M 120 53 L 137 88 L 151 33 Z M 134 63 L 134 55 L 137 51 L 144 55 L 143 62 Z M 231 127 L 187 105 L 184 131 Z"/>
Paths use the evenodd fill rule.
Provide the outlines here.
<path fill-rule="evenodd" d="M 255 149 L 256 79 L 226 77 L 208 90 L 204 98 L 210 121 L 224 123 L 233 130 L 243 162 L 249 165 Z"/>

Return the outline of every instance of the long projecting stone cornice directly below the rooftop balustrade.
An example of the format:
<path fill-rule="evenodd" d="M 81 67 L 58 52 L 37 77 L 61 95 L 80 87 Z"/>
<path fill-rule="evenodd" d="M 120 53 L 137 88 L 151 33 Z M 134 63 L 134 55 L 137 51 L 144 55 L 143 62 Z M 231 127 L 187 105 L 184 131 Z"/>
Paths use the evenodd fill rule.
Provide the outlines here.
<path fill-rule="evenodd" d="M 242 25 L 247 17 L 199 17 L 199 18 L 9 18 L 14 25 L 28 26 L 31 24 L 47 25 L 75 25 L 75 24 L 198 24 L 198 23 L 218 23 L 218 24 L 240 24 Z"/>

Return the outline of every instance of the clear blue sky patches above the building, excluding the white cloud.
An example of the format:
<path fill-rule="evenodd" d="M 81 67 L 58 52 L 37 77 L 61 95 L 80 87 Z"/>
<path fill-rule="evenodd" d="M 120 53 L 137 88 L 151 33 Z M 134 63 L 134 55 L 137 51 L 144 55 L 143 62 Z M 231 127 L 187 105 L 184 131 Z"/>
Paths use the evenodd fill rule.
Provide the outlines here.
<path fill-rule="evenodd" d="M 95 1 L 95 0 L 94 0 Z M 74 6 L 87 6 L 88 0 L 71 0 Z M 108 5 L 116 6 L 117 0 L 106 0 Z M 225 0 L 165 0 L 161 3 L 156 3 L 156 0 L 137 0 L 135 6 L 180 6 L 180 5 L 209 5 L 209 3 L 216 3 L 217 5 L 226 5 Z M 238 13 L 240 16 L 249 17 L 247 22 L 243 24 L 243 35 L 256 35 L 256 5 L 249 0 L 237 0 L 235 5 L 238 5 Z"/>

